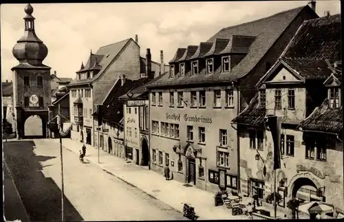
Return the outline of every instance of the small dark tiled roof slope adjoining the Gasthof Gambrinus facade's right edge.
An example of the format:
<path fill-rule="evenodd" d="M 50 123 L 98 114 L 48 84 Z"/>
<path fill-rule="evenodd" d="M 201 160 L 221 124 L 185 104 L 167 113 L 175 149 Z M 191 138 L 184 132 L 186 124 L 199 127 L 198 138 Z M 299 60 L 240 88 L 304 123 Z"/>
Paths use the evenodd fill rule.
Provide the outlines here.
<path fill-rule="evenodd" d="M 253 126 L 261 126 L 264 124 L 264 118 L 266 116 L 265 107 L 259 106 L 259 93 L 256 93 L 252 98 L 250 104 L 232 120 L 237 124 L 250 124 Z"/>

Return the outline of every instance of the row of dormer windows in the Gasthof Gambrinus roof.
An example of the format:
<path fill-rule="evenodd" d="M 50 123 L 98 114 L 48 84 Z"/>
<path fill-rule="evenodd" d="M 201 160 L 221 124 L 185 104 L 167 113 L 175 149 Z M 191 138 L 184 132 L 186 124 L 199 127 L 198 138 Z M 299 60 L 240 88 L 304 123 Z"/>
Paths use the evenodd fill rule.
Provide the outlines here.
<path fill-rule="evenodd" d="M 213 74 L 216 67 L 214 66 L 214 58 L 206 59 L 206 74 Z M 266 63 L 266 70 L 270 69 L 271 63 Z M 230 56 L 222 57 L 222 72 L 230 71 Z M 185 76 L 185 63 L 179 64 L 180 76 Z M 197 75 L 200 73 L 200 60 L 191 61 L 191 75 Z M 175 77 L 175 65 L 170 65 L 170 77 Z"/>

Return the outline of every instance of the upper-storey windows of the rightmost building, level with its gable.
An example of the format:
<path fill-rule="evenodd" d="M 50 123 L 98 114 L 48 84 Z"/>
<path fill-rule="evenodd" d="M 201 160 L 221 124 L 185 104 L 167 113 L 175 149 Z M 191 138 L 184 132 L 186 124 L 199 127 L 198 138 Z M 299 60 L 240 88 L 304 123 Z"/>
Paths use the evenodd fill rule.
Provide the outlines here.
<path fill-rule="evenodd" d="M 328 93 L 329 107 L 339 108 L 341 106 L 339 100 L 339 90 L 338 88 L 331 88 L 330 93 Z M 286 93 L 287 94 L 287 93 Z M 281 89 L 275 89 L 275 109 L 282 109 L 282 97 L 286 94 L 281 93 Z M 266 91 L 265 89 L 259 90 L 259 106 L 266 106 Z M 288 109 L 295 109 L 295 89 L 288 89 Z"/>

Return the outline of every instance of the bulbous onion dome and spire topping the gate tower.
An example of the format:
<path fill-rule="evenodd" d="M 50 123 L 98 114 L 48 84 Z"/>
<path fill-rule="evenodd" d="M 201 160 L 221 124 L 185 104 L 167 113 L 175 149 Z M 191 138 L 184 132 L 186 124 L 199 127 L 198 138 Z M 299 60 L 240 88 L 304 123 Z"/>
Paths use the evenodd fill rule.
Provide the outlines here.
<path fill-rule="evenodd" d="M 26 13 L 23 18 L 25 21 L 24 36 L 14 45 L 12 54 L 19 60 L 19 63 L 29 63 L 30 65 L 39 66 L 42 65 L 43 60 L 47 57 L 47 46 L 44 45 L 43 41 L 34 32 L 34 16 L 32 16 L 34 8 L 28 3 L 24 11 Z"/>

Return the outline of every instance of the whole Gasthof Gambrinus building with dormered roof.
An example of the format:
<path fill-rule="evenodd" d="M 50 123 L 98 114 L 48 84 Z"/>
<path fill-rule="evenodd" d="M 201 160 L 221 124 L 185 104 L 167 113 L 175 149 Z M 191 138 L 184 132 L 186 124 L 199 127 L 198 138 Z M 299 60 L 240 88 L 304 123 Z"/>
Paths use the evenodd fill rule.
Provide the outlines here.
<path fill-rule="evenodd" d="M 237 131 L 230 120 L 255 95 L 255 85 L 304 19 L 315 17 L 308 6 L 296 8 L 178 49 L 169 74 L 147 86 L 151 168 L 163 173 L 169 164 L 178 181 L 214 192 L 219 186 L 237 190 Z"/>

